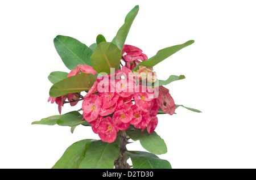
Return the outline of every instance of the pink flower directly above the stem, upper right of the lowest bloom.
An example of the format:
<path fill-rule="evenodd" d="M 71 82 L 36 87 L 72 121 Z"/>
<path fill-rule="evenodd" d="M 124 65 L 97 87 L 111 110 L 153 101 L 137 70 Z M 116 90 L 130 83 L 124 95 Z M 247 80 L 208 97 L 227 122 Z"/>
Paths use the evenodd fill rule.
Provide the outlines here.
<path fill-rule="evenodd" d="M 122 104 L 113 114 L 113 121 L 121 131 L 124 131 L 129 127 L 131 119 L 133 119 L 133 110 L 128 104 Z"/>

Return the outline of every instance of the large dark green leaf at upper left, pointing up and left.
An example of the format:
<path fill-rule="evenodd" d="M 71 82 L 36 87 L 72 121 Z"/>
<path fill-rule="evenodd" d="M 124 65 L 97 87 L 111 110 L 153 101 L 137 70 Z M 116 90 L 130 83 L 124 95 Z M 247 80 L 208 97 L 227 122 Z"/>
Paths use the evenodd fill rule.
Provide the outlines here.
<path fill-rule="evenodd" d="M 69 36 L 56 36 L 53 40 L 55 49 L 60 55 L 63 63 L 69 70 L 73 70 L 77 65 L 89 65 L 92 49 L 82 42 Z"/>

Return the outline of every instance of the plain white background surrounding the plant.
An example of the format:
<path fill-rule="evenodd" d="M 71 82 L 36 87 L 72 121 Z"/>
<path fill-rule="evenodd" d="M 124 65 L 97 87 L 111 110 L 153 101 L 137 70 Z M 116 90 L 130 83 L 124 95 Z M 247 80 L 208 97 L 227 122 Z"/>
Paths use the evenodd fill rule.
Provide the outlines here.
<path fill-rule="evenodd" d="M 111 41 L 135 6 L 140 10 L 126 44 L 148 57 L 195 43 L 154 70 L 168 84 L 176 115 L 159 115 L 156 132 L 167 144 L 159 155 L 172 168 L 256 168 L 255 1 L 1 1 L 0 168 L 51 168 L 72 143 L 96 138 L 90 127 L 31 125 L 58 114 L 47 102 L 52 71 L 69 70 L 53 38 L 86 45 L 102 34 Z M 81 104 L 79 104 L 81 105 Z M 63 107 L 63 113 L 80 106 Z M 129 150 L 143 150 L 138 142 Z"/>

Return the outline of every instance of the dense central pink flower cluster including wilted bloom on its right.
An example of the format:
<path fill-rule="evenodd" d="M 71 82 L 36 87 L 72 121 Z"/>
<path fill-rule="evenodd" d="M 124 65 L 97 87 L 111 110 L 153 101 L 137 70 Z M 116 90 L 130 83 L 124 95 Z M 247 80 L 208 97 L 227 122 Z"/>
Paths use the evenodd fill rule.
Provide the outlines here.
<path fill-rule="evenodd" d="M 154 131 L 159 108 L 174 114 L 176 106 L 168 89 L 136 84 L 133 73 L 126 67 L 114 75 L 98 77 L 82 102 L 84 119 L 108 143 L 114 142 L 119 130 L 124 131 L 130 125 L 142 131 L 147 128 L 148 133 Z"/>

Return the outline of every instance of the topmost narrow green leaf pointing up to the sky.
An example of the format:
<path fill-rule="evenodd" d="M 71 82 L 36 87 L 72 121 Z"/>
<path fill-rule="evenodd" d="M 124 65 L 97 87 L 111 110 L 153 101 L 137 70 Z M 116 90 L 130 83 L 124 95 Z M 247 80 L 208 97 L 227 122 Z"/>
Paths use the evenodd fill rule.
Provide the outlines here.
<path fill-rule="evenodd" d="M 123 45 L 125 44 L 126 37 L 130 31 L 131 24 L 133 24 L 133 20 L 137 16 L 139 11 L 139 6 L 135 6 L 125 18 L 125 23 L 118 30 L 117 35 L 114 37 L 115 44 L 122 51 Z"/>

